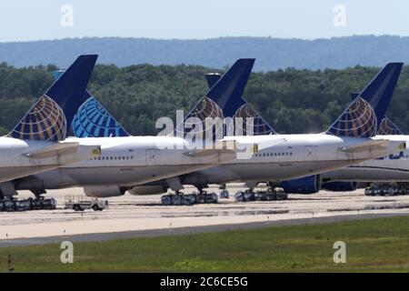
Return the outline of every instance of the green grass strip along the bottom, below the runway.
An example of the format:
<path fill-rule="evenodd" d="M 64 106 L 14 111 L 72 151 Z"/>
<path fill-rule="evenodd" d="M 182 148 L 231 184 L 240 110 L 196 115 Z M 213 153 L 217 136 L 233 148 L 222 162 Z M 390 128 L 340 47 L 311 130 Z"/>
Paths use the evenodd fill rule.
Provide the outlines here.
<path fill-rule="evenodd" d="M 346 264 L 333 261 L 339 240 Z M 11 254 L 16 272 L 408 272 L 409 216 L 75 243 L 74 264 L 60 262 L 62 251 L 59 245 L 0 248 L 0 262 Z"/>

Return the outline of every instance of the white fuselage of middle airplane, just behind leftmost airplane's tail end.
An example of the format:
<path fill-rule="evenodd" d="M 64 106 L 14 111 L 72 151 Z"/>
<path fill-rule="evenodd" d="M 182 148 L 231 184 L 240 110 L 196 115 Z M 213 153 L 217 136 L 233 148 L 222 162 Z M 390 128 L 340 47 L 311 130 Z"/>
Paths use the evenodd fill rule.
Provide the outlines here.
<path fill-rule="evenodd" d="M 45 188 L 143 184 L 235 158 L 233 151 L 192 156 L 189 154 L 195 150 L 189 149 L 183 138 L 169 136 L 69 137 L 65 141 L 78 142 L 82 146 L 100 145 L 101 150 L 86 160 L 41 176 Z"/>

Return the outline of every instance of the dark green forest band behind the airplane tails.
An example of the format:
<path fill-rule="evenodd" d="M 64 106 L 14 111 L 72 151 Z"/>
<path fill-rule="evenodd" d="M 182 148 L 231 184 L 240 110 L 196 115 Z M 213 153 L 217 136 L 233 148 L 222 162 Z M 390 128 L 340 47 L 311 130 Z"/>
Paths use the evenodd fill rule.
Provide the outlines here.
<path fill-rule="evenodd" d="M 52 84 L 54 65 L 15 68 L 0 65 L 0 131 L 5 134 L 35 99 Z M 160 116 L 185 113 L 206 92 L 205 73 L 214 70 L 197 65 L 97 65 L 88 86 L 95 97 L 133 135 L 155 135 Z M 296 70 L 289 68 L 254 73 L 245 99 L 279 133 L 320 132 L 340 115 L 379 71 L 355 66 L 344 70 Z M 409 132 L 409 70 L 404 67 L 388 115 Z"/>

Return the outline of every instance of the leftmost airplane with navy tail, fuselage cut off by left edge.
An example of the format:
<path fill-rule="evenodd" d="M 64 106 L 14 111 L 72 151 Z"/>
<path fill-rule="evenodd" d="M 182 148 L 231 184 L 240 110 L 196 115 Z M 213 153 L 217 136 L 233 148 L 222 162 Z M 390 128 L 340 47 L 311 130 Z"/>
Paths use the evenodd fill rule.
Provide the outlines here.
<path fill-rule="evenodd" d="M 11 179 L 87 159 L 95 145 L 66 142 L 68 124 L 82 105 L 97 55 L 80 55 L 5 136 L 0 137 L 0 196 L 15 193 Z"/>

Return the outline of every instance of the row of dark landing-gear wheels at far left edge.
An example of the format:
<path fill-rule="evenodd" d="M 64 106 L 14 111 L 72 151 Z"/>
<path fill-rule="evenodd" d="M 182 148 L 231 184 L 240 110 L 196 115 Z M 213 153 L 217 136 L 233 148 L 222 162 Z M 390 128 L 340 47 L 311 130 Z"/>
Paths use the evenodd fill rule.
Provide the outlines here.
<path fill-rule="evenodd" d="M 30 210 L 53 210 L 56 208 L 56 200 L 54 198 L 38 198 L 15 199 L 14 197 L 5 197 L 0 200 L 0 212 L 22 212 Z"/>

